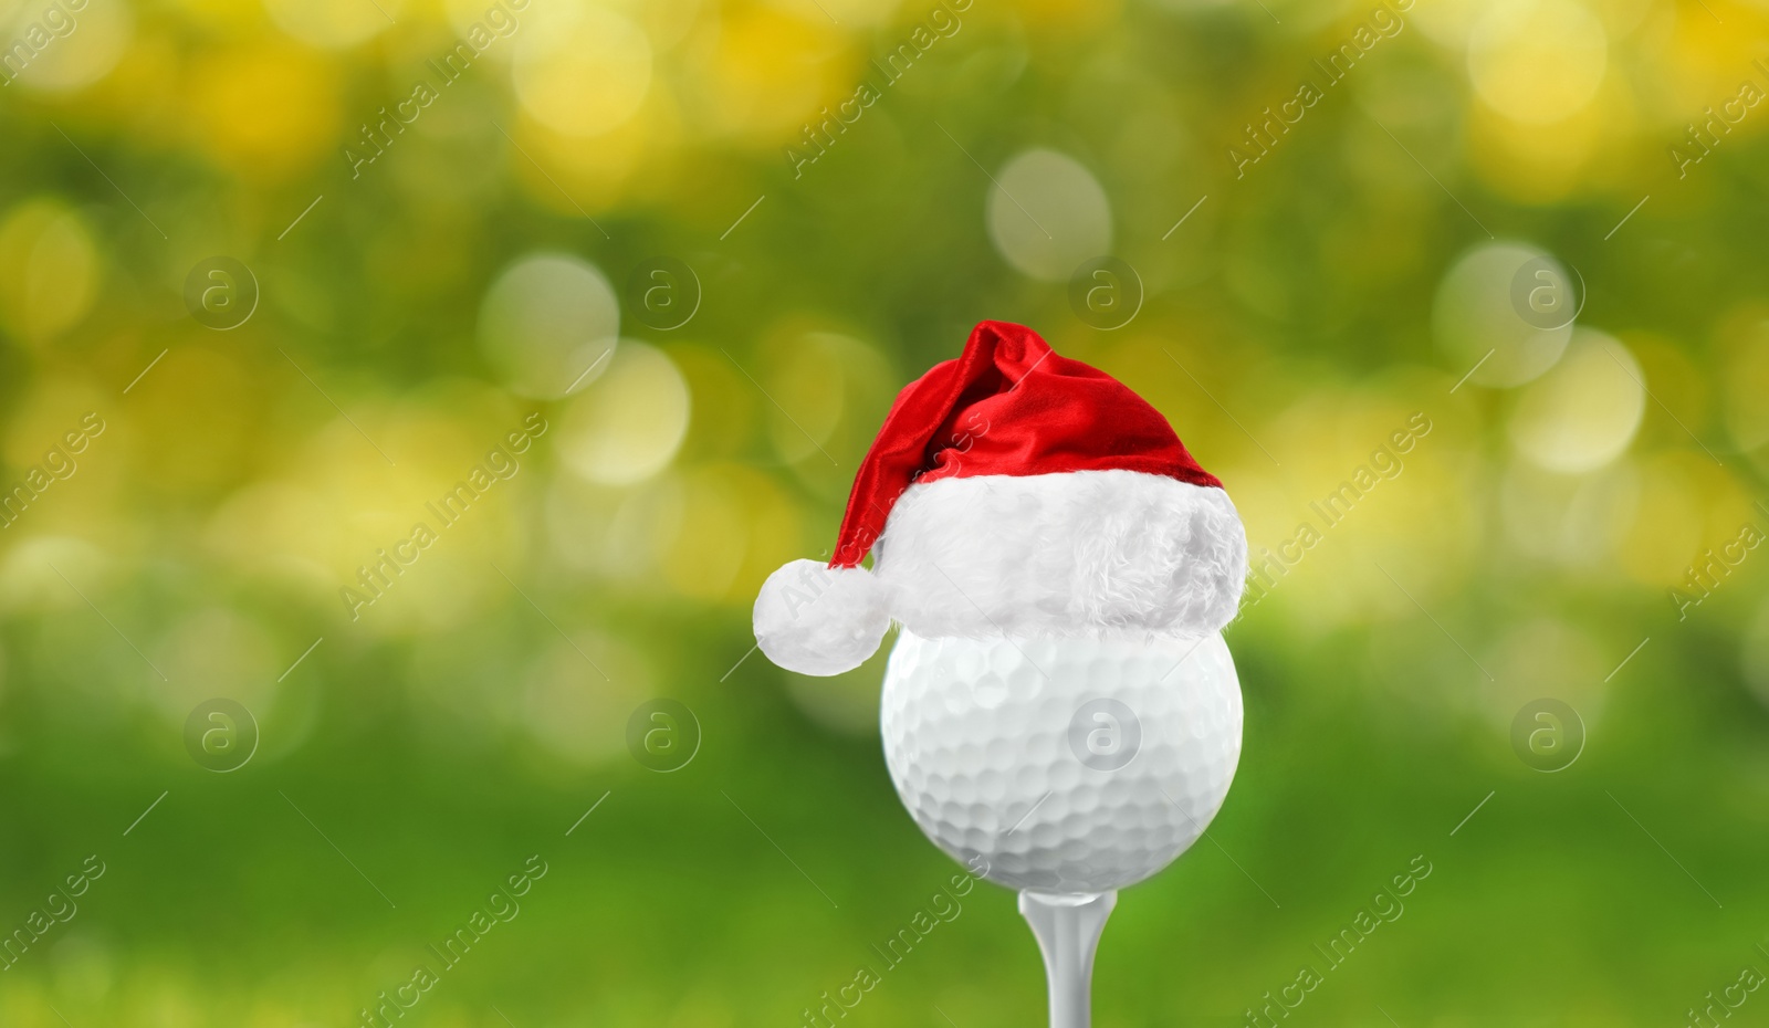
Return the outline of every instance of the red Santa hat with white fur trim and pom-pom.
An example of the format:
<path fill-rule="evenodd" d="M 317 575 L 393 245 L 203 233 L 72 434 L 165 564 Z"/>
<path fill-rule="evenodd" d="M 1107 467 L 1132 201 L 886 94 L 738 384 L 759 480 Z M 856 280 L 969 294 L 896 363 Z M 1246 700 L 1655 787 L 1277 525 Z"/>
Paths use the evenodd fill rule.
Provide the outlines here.
<path fill-rule="evenodd" d="M 1031 329 L 982 322 L 897 395 L 835 559 L 762 584 L 755 642 L 840 674 L 892 619 L 922 637 L 1205 635 L 1245 575 L 1235 504 L 1159 410 Z"/>

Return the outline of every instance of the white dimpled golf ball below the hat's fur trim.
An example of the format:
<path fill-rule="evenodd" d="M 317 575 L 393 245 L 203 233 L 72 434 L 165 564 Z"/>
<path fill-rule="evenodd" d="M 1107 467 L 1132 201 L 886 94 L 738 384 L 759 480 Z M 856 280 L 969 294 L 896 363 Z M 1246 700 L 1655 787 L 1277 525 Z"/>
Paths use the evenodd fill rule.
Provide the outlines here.
<path fill-rule="evenodd" d="M 884 763 L 922 832 L 989 881 L 1106 892 L 1215 817 L 1240 759 L 1240 683 L 1203 639 L 922 639 L 884 671 Z"/>

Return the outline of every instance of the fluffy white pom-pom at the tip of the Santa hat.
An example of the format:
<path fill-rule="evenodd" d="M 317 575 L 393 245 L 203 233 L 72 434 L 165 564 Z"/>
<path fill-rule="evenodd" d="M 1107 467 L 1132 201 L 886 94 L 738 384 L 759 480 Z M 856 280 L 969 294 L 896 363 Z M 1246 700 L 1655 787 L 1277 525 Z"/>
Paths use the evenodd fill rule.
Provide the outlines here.
<path fill-rule="evenodd" d="M 877 651 L 890 628 L 886 589 L 865 568 L 793 561 L 755 596 L 755 642 L 787 671 L 840 674 Z"/>

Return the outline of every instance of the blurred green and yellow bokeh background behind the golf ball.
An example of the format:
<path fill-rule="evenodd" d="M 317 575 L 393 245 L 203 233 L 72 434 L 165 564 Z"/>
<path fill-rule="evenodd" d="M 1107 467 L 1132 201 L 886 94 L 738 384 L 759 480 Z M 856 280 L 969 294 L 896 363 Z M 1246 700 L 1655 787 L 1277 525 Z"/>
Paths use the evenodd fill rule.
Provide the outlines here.
<path fill-rule="evenodd" d="M 1293 564 L 1099 1024 L 1265 1023 L 1304 966 L 1284 1023 L 1769 1009 L 1725 993 L 1769 971 L 1764 0 L 14 0 L 0 41 L 0 1024 L 361 1024 L 531 855 L 402 1024 L 801 1024 L 862 966 L 842 1024 L 1042 1023 L 996 886 L 884 970 L 957 867 L 883 655 L 748 630 L 980 318 L 1148 396 Z"/>

